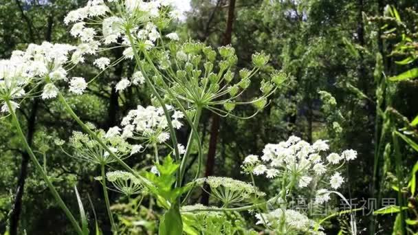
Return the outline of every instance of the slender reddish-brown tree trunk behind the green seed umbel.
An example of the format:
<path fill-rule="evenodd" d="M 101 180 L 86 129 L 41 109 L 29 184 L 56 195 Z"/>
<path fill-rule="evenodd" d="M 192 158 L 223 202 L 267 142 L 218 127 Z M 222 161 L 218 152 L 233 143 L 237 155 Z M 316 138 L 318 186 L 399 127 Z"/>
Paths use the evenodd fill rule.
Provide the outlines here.
<path fill-rule="evenodd" d="M 230 5 L 228 7 L 228 19 L 226 22 L 226 30 L 223 38 L 222 45 L 229 45 L 232 41 L 232 23 L 234 23 L 234 11 L 235 11 L 235 0 L 230 0 Z M 206 159 L 206 172 L 205 177 L 208 177 L 213 174 L 214 169 L 214 158 L 217 151 L 217 142 L 219 134 L 219 115 L 212 113 L 212 126 L 210 127 L 210 140 L 209 140 L 209 150 L 208 158 Z M 209 194 L 210 188 L 205 185 L 205 190 L 202 192 L 201 203 L 203 205 L 208 205 L 209 203 Z"/>

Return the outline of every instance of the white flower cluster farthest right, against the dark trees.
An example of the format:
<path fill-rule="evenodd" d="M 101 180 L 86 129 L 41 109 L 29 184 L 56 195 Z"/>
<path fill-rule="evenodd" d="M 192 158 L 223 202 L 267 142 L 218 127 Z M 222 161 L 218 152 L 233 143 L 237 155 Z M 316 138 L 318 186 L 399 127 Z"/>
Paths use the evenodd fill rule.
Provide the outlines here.
<path fill-rule="evenodd" d="M 297 179 L 299 188 L 309 186 L 315 177 L 321 177 L 332 172 L 331 167 L 344 161 L 351 161 L 357 157 L 355 150 L 344 150 L 341 155 L 330 153 L 322 157 L 329 150 L 327 141 L 319 139 L 309 144 L 299 137 L 291 136 L 286 142 L 267 144 L 261 157 L 249 155 L 243 161 L 243 169 L 254 175 L 265 175 L 268 179 L 292 176 Z M 340 188 L 344 182 L 340 172 L 334 172 L 329 179 L 333 189 Z M 318 201 L 327 201 L 329 195 L 322 192 Z"/>

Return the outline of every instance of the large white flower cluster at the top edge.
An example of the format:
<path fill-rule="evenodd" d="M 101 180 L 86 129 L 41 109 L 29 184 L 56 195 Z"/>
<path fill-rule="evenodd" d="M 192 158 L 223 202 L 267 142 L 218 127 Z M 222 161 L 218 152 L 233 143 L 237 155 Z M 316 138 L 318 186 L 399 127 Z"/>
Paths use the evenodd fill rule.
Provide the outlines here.
<path fill-rule="evenodd" d="M 80 38 L 82 42 L 76 48 L 72 61 L 84 62 L 85 54 L 97 54 L 112 43 L 118 44 L 117 47 L 124 47 L 124 58 L 132 59 L 134 53 L 129 37 L 135 39 L 135 44 L 140 49 L 148 50 L 155 47 L 155 41 L 162 38 L 160 35 L 162 28 L 156 26 L 161 24 L 157 23 L 176 20 L 179 15 L 170 7 L 172 5 L 173 2 L 170 0 L 112 0 L 107 3 L 103 0 L 89 0 L 85 7 L 69 12 L 64 19 L 66 25 L 73 24 L 70 30 L 72 36 Z M 126 35 L 128 32 L 129 34 Z M 179 40 L 179 36 L 174 32 L 167 34 L 166 38 Z M 115 63 L 112 64 L 106 57 L 94 61 L 94 65 L 101 70 Z M 123 78 L 116 85 L 116 89 L 122 91 L 135 83 L 143 82 L 138 82 L 135 78 L 132 81 Z"/>

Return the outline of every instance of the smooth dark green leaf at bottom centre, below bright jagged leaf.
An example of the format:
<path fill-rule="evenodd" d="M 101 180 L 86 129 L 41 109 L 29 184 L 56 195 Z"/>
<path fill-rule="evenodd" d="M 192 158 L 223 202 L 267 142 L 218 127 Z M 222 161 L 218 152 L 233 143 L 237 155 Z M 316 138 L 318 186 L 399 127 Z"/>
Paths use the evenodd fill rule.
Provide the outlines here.
<path fill-rule="evenodd" d="M 159 235 L 181 235 L 183 234 L 183 222 L 181 221 L 180 208 L 178 203 L 171 206 L 159 221 Z"/>

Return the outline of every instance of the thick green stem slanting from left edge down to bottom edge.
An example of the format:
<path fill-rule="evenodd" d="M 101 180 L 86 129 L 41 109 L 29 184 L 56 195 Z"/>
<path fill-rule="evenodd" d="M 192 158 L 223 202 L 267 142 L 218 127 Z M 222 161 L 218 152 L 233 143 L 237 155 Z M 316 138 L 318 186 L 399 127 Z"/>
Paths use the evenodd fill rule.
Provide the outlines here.
<path fill-rule="evenodd" d="M 56 191 L 54 185 L 52 185 L 50 179 L 48 178 L 45 171 L 43 170 L 41 164 L 39 164 L 38 159 L 36 159 L 36 156 L 34 155 L 34 153 L 32 151 L 32 148 L 30 148 L 28 142 L 26 141 L 26 137 L 25 137 L 25 135 L 23 135 L 21 125 L 19 124 L 19 120 L 17 119 L 17 115 L 12 108 L 12 104 L 10 103 L 9 100 L 5 100 L 5 102 L 8 106 L 10 114 L 12 115 L 12 120 L 14 122 L 14 126 L 17 128 L 17 133 L 19 134 L 19 137 L 21 138 L 21 141 L 23 142 L 23 145 L 25 146 L 25 149 L 28 151 L 30 159 L 33 161 L 33 163 L 36 167 L 36 170 L 38 170 L 41 173 L 41 177 L 43 178 L 45 183 L 47 183 L 47 186 L 50 189 L 50 191 L 52 193 L 52 196 L 54 197 L 54 199 L 56 200 L 58 205 L 61 207 L 61 209 L 64 211 L 64 213 L 67 216 L 67 218 L 69 219 L 69 221 L 71 221 L 71 223 L 72 223 L 74 229 L 76 230 L 77 234 L 83 235 L 83 231 L 81 230 L 80 225 L 78 225 L 78 223 L 77 223 L 76 219 L 74 218 L 73 214 L 69 211 L 69 209 L 67 208 L 67 205 L 65 205 L 63 199 L 61 199 L 61 197 L 58 194 L 58 192 Z"/>

